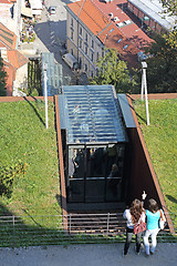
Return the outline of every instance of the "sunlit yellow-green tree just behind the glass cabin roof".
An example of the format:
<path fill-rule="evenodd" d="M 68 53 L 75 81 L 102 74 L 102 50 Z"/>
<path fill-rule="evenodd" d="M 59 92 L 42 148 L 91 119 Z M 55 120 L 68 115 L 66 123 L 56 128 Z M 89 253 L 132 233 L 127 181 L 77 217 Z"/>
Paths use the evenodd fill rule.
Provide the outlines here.
<path fill-rule="evenodd" d="M 96 66 L 98 73 L 90 78 L 90 84 L 112 84 L 117 92 L 131 92 L 134 79 L 126 63 L 118 60 L 116 50 L 105 50 L 105 57 L 98 59 Z"/>

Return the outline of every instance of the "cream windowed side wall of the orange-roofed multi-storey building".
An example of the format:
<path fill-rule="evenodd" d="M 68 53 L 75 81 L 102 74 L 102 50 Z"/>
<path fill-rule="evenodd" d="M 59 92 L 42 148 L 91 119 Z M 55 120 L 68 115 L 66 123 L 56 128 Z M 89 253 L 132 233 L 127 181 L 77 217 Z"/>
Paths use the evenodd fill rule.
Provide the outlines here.
<path fill-rule="evenodd" d="M 77 59 L 80 69 L 88 76 L 96 75 L 95 62 L 104 55 L 103 43 L 93 32 L 67 9 L 66 47 L 70 53 Z"/>

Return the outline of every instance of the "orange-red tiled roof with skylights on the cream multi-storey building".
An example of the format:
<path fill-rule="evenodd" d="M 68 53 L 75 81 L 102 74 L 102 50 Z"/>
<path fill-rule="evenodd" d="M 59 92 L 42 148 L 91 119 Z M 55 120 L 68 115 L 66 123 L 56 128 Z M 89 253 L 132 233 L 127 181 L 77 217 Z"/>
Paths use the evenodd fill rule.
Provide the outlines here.
<path fill-rule="evenodd" d="M 100 0 L 81 0 L 69 3 L 67 7 L 107 48 L 116 49 L 122 60 L 127 61 L 129 66 L 135 66 L 137 52 L 153 40 L 122 10 L 125 3 L 126 0 L 113 0 L 107 3 Z M 110 13 L 113 13 L 113 18 L 117 17 L 116 22 L 111 19 Z M 129 23 L 125 24 L 124 21 Z M 119 22 L 123 25 L 121 28 L 116 25 Z"/>

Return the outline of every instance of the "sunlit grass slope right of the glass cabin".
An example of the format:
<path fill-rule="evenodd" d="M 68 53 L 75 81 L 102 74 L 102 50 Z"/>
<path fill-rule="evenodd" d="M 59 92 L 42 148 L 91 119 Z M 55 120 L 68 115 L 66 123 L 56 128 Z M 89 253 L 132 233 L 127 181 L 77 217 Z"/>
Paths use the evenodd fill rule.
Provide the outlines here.
<path fill-rule="evenodd" d="M 146 125 L 145 103 L 135 101 L 134 108 L 162 187 L 167 208 L 177 215 L 177 99 L 150 100 Z M 177 228 L 177 216 L 171 215 Z"/>

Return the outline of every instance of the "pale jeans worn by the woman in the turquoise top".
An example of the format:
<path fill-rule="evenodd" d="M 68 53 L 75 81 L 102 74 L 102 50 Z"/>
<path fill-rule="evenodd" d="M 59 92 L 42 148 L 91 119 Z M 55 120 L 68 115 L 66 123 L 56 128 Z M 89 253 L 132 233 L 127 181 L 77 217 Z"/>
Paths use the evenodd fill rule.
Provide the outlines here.
<path fill-rule="evenodd" d="M 159 232 L 159 228 L 156 228 L 156 229 L 147 229 L 144 237 L 143 237 L 143 241 L 144 241 L 144 245 L 145 245 L 145 252 L 147 255 L 149 255 L 149 250 L 152 253 L 155 252 L 156 249 L 156 246 L 157 246 L 157 234 Z M 152 237 L 152 248 L 149 248 L 149 242 L 148 242 L 148 237 Z"/>

